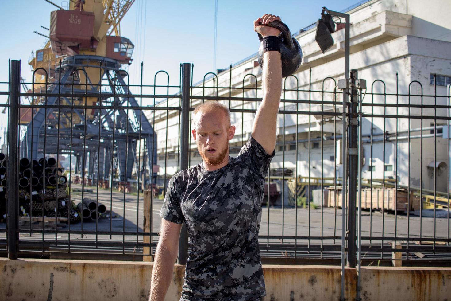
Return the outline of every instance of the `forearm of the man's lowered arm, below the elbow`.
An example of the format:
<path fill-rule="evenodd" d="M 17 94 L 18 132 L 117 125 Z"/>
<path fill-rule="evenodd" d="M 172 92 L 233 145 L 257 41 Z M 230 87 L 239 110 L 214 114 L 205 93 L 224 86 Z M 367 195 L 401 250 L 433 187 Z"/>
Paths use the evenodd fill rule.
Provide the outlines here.
<path fill-rule="evenodd" d="M 154 258 L 149 301 L 163 301 L 172 281 L 175 258 L 159 248 Z"/>

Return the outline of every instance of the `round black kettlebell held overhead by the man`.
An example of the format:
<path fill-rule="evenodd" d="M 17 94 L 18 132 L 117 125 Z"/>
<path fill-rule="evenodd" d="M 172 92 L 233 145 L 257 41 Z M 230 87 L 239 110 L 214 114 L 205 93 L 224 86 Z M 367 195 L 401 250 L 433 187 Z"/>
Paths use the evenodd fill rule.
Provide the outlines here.
<path fill-rule="evenodd" d="M 276 20 L 264 25 L 281 31 L 279 39 L 281 40 L 282 77 L 294 74 L 302 62 L 302 49 L 299 42 L 294 37 L 291 37 L 290 29 L 282 21 Z M 260 47 L 257 54 L 258 65 L 263 68 L 263 37 L 261 34 L 257 34 L 260 39 Z"/>

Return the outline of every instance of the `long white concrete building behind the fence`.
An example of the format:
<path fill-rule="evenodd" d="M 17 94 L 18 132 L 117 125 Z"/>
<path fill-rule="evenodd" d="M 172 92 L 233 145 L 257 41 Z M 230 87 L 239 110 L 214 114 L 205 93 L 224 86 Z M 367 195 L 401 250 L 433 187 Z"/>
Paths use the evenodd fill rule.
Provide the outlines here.
<path fill-rule="evenodd" d="M 329 7 L 329 9 L 334 9 Z M 350 14 L 350 69 L 357 69 L 359 78 L 367 80 L 367 94 L 364 103 L 387 103 L 400 104 L 391 107 L 369 107 L 364 106 L 364 113 L 407 116 L 410 119 L 410 129 L 428 128 L 434 124 L 433 119 L 414 119 L 414 116 L 434 116 L 433 108 L 409 107 L 402 105 L 447 105 L 447 84 L 451 83 L 451 21 L 449 12 L 451 1 L 431 0 L 425 3 L 420 0 L 369 0 L 354 9 L 346 12 Z M 319 16 L 318 11 L 318 16 Z M 338 20 L 337 20 L 338 21 Z M 295 28 L 293 24 L 292 33 Z M 303 63 L 295 76 L 286 79 L 285 89 L 296 91 L 285 91 L 282 98 L 299 100 L 333 101 L 334 93 L 321 93 L 333 91 L 336 81 L 344 78 L 345 64 L 345 29 L 337 30 L 332 34 L 335 45 L 324 54 L 315 42 L 316 26 L 299 31 L 295 38 L 302 47 Z M 256 37 L 257 38 L 257 37 Z M 255 95 L 255 86 L 261 85 L 261 68 L 256 63 L 257 58 L 251 57 L 235 65 L 230 69 L 220 72 L 217 76 L 217 95 L 223 97 L 262 97 L 262 91 L 258 90 Z M 246 74 L 252 73 L 255 76 Z M 434 83 L 434 74 L 437 74 L 437 86 Z M 432 78 L 431 78 L 432 77 Z M 244 79 L 244 81 L 243 81 Z M 379 81 L 377 81 L 379 80 Z M 383 82 L 382 82 L 383 81 Z M 373 83 L 374 82 L 374 83 Z M 245 89 L 243 89 L 243 83 Z M 385 83 L 385 88 L 384 88 Z M 422 85 L 420 88 L 419 83 Z M 202 83 L 193 88 L 195 96 L 216 96 L 216 89 L 202 88 Z M 216 79 L 206 81 L 205 86 L 216 87 Z M 310 92 L 309 92 L 310 88 Z M 370 95 L 381 93 L 385 95 Z M 436 89 L 436 91 L 435 91 Z M 419 96 L 406 96 L 406 94 Z M 317 92 L 314 92 L 317 91 Z M 339 91 L 339 90 L 338 90 Z M 420 95 L 423 95 L 421 97 Z M 432 95 L 432 96 L 425 96 Z M 433 97 L 437 95 L 438 97 Z M 442 97 L 440 97 L 442 96 Z M 201 100 L 193 100 L 193 106 Z M 336 95 L 336 101 L 341 102 L 341 94 Z M 229 101 L 223 101 L 227 105 Z M 179 99 L 169 99 L 160 103 L 161 106 L 178 106 Z M 232 101 L 230 107 L 253 108 L 255 102 Z M 284 103 L 281 103 L 284 109 Z M 296 110 L 295 103 L 285 103 L 285 110 Z M 341 105 L 315 105 L 307 103 L 298 104 L 298 111 L 336 111 L 341 112 Z M 435 109 L 436 116 L 449 116 L 447 108 Z M 150 120 L 153 116 L 147 116 Z M 284 123 L 285 117 L 285 123 Z M 153 121 L 153 120 L 152 120 Z M 166 133 L 167 122 L 167 133 Z M 232 113 L 232 124 L 236 126 L 235 138 L 231 141 L 232 155 L 238 153 L 242 141 L 249 139 L 252 128 L 252 113 Z M 448 120 L 437 120 L 437 125 L 447 125 Z M 155 130 L 158 137 L 158 165 L 160 175 L 173 175 L 177 171 L 178 158 L 178 112 L 170 112 L 166 120 L 166 112 L 157 111 L 155 115 Z M 278 120 L 278 144 L 276 145 L 276 157 L 272 160 L 271 168 L 298 168 L 299 176 L 312 177 L 341 177 L 341 164 L 339 156 L 341 153 L 338 145 L 336 153 L 334 142 L 331 137 L 337 135 L 338 144 L 341 143 L 341 118 L 336 118 L 334 129 L 334 118 L 322 118 L 321 115 L 279 115 Z M 373 127 L 373 144 L 364 143 L 364 167 L 363 178 L 382 179 L 382 176 L 395 177 L 401 185 L 420 185 L 420 171 L 423 188 L 433 189 L 434 176 L 436 172 L 436 186 L 439 191 L 446 191 L 448 172 L 448 143 L 449 139 L 442 137 L 448 132 L 447 128 L 439 127 L 410 132 L 410 145 L 407 138 L 409 119 L 406 118 L 364 118 L 363 135 L 364 142 L 369 140 L 371 128 Z M 295 135 L 298 132 L 298 152 L 295 152 Z M 396 135 L 391 131 L 398 130 L 397 156 Z M 402 131 L 405 132 L 402 132 Z M 384 153 L 384 131 L 386 134 Z M 310 145 L 308 142 L 310 133 Z M 414 138 L 423 134 L 423 139 Z M 432 137 L 431 137 L 432 133 Z M 167 139 L 166 139 L 167 134 Z M 321 139 L 323 137 L 323 139 Z M 389 137 L 392 137 L 388 139 Z M 318 139 L 319 138 L 319 139 Z M 285 155 L 282 141 L 285 140 Z M 299 141 L 300 140 L 300 141 Z M 435 144 L 434 144 L 435 140 Z M 167 142 L 166 168 L 165 149 Z M 191 139 L 191 166 L 200 162 L 196 150 L 196 144 Z M 420 147 L 422 144 L 422 148 Z M 373 149 L 371 153 L 371 148 Z M 310 149 L 310 153 L 308 152 Z M 420 153 L 422 152 L 422 153 Z M 409 155 L 410 153 L 410 155 Z M 372 156 L 371 156 L 372 154 Z M 385 157 L 384 157 L 385 154 Z M 310 156 L 310 159 L 309 159 Z M 396 164 L 397 157 L 397 164 Z M 409 163 L 410 162 L 410 163 Z M 421 164 L 421 167 L 420 167 Z M 436 166 L 437 168 L 434 168 Z"/>

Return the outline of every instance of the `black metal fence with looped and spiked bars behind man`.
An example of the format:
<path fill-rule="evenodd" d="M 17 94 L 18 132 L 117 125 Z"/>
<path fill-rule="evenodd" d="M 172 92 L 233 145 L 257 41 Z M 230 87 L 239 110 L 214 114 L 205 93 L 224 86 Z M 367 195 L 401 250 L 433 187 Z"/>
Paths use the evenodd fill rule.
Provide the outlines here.
<path fill-rule="evenodd" d="M 167 182 L 200 162 L 193 108 L 208 100 L 230 107 L 232 155 L 249 139 L 260 74 L 233 71 L 193 84 L 193 66 L 183 64 L 178 85 L 164 71 L 151 85 L 142 75 L 131 84 L 120 66 L 76 56 L 53 78 L 35 70 L 20 91 L 27 83 L 11 61 L 9 82 L 0 83 L 2 254 L 151 260 Z M 344 252 L 350 266 L 449 264 L 450 87 L 435 74 L 407 86 L 394 74 L 366 87 L 357 75 L 348 87 L 312 80 L 311 70 L 284 80 L 262 204 L 263 262 L 339 264 Z M 181 262 L 188 248 L 183 229 Z"/>

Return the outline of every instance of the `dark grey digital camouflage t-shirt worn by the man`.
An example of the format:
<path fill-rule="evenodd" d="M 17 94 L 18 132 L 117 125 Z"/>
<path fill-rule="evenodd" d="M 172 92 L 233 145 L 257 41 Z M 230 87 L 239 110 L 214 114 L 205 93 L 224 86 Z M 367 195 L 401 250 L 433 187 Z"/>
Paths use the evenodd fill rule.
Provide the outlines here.
<path fill-rule="evenodd" d="M 191 251 L 180 300 L 265 296 L 258 230 L 268 155 L 253 137 L 216 171 L 202 163 L 170 179 L 160 216 L 186 223 Z"/>

